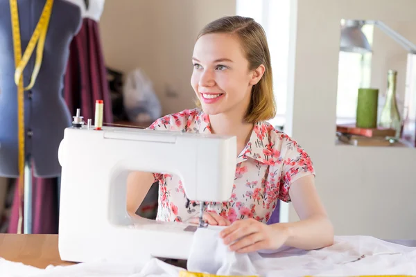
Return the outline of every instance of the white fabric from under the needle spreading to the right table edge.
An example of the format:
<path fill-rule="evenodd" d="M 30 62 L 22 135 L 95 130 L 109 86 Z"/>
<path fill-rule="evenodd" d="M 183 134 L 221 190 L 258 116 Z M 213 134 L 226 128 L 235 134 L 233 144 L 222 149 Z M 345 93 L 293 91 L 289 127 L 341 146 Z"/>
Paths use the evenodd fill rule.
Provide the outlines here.
<path fill-rule="evenodd" d="M 239 254 L 231 252 L 219 231 L 196 233 L 189 271 L 217 275 L 356 276 L 416 275 L 416 248 L 367 236 L 336 237 L 331 247 L 315 251 L 281 248 L 277 251 Z M 357 260 L 361 256 L 365 258 Z"/>

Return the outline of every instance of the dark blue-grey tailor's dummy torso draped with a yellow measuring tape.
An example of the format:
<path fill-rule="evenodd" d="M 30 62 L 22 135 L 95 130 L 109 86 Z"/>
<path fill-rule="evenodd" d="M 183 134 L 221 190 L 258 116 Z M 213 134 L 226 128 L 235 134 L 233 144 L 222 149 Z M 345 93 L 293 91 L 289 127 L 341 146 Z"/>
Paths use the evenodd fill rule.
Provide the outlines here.
<path fill-rule="evenodd" d="M 46 0 L 17 0 L 21 53 L 26 50 Z M 79 6 L 54 0 L 46 33 L 42 66 L 35 85 L 24 93 L 26 155 L 31 156 L 36 177 L 58 177 L 58 148 L 71 114 L 62 96 L 69 45 L 81 24 Z M 0 1 L 0 177 L 19 177 L 17 137 L 17 87 L 12 42 L 10 3 Z M 35 65 L 36 48 L 24 69 L 24 87 Z"/>

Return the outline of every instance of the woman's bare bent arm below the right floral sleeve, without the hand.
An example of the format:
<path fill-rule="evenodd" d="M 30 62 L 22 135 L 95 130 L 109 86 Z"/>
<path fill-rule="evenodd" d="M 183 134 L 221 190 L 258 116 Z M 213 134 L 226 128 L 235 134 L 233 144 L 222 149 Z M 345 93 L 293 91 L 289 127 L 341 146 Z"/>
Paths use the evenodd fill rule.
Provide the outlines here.
<path fill-rule="evenodd" d="M 333 226 L 316 192 L 313 175 L 294 181 L 289 195 L 300 221 L 270 225 L 277 235 L 282 229 L 287 232 L 284 244 L 306 250 L 331 246 Z"/>

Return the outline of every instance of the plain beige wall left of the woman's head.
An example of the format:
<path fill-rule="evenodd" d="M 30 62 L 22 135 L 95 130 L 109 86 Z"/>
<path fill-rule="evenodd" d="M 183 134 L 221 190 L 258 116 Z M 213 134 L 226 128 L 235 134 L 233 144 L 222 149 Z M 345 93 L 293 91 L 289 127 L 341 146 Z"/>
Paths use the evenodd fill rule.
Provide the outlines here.
<path fill-rule="evenodd" d="M 235 13 L 234 0 L 105 1 L 100 20 L 105 62 L 124 73 L 144 69 L 162 114 L 195 107 L 190 80 L 196 35 L 209 21 Z"/>

